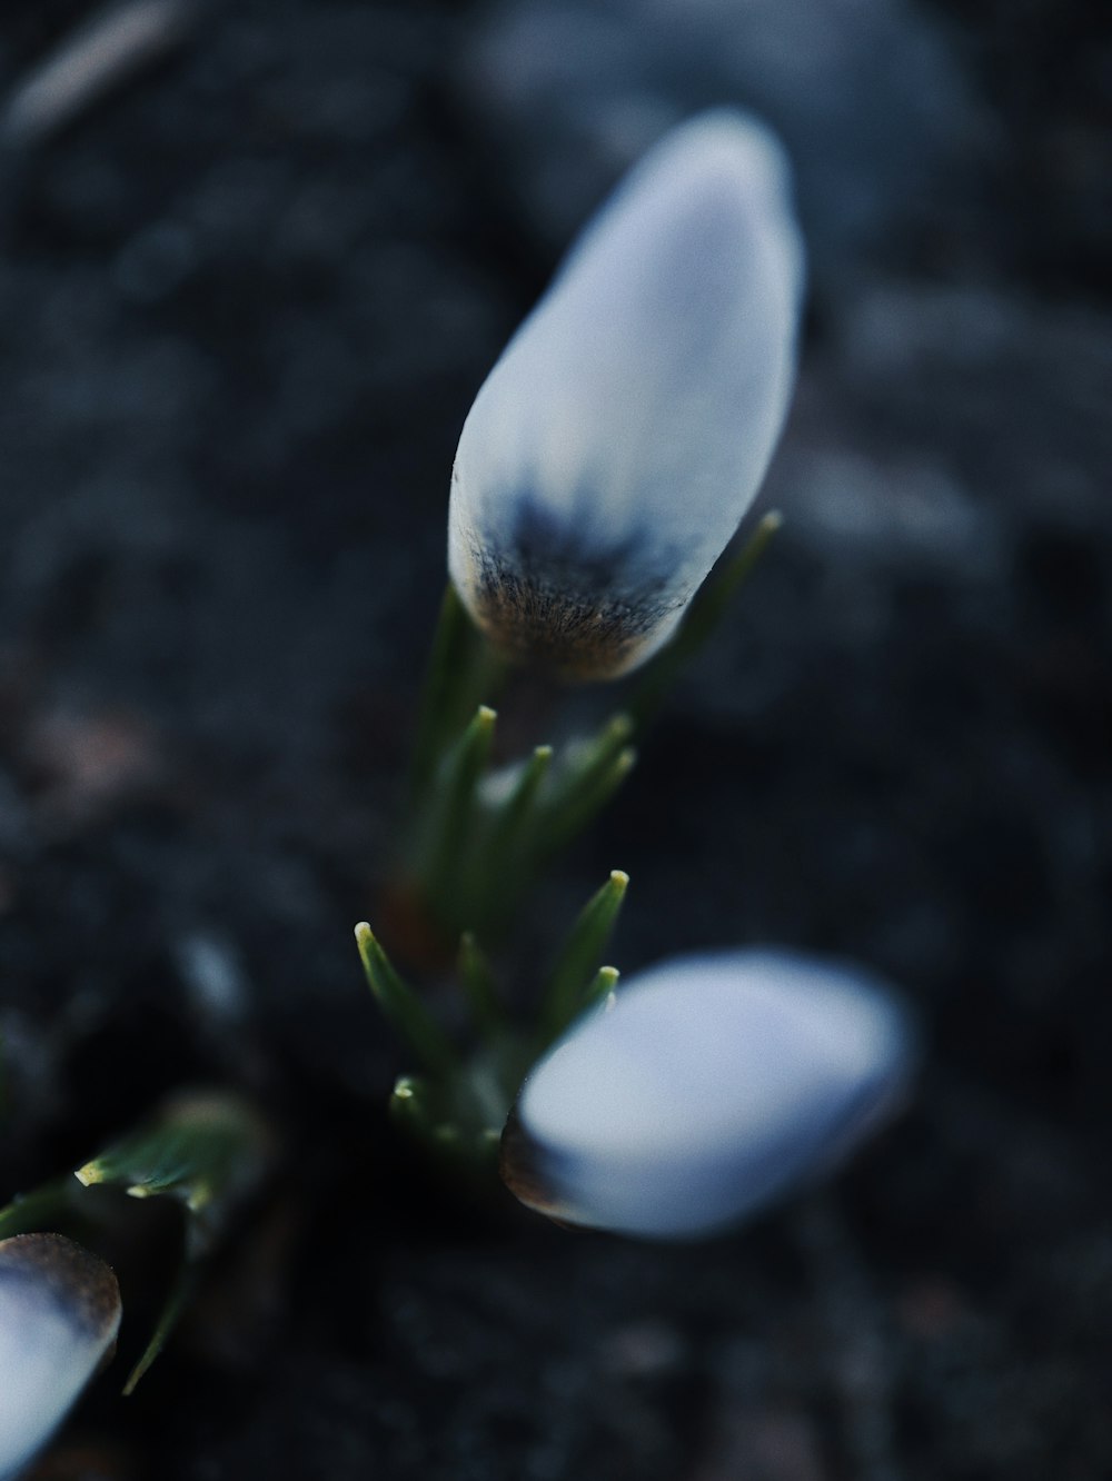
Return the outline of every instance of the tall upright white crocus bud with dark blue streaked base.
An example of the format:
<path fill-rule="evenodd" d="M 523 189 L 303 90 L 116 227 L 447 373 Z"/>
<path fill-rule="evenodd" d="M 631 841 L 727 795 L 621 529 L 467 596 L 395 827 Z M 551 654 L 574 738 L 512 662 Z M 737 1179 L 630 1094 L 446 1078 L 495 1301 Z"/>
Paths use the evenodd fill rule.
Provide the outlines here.
<path fill-rule="evenodd" d="M 449 567 L 499 646 L 606 678 L 671 635 L 771 458 L 801 278 L 760 124 L 705 114 L 632 170 L 459 440 Z"/>

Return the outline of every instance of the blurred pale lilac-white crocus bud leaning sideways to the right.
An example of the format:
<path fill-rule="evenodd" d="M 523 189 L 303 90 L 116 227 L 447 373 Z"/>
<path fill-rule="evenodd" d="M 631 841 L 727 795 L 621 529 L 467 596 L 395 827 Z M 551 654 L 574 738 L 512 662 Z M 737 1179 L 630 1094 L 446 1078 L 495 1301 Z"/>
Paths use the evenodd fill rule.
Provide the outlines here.
<path fill-rule="evenodd" d="M 720 1229 L 835 1164 L 903 1097 L 912 1040 L 866 973 L 780 951 L 629 980 L 530 1072 L 503 1176 L 557 1219 Z"/>

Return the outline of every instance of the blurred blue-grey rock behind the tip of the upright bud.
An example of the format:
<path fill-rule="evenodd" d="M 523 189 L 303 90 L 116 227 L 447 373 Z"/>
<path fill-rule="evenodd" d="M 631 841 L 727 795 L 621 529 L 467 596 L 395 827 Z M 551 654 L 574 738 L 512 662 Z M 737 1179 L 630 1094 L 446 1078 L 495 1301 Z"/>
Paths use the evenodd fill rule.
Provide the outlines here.
<path fill-rule="evenodd" d="M 460 89 L 526 219 L 563 249 L 680 118 L 751 108 L 783 138 L 820 281 L 968 206 L 986 114 L 945 27 L 905 0 L 508 0 Z"/>

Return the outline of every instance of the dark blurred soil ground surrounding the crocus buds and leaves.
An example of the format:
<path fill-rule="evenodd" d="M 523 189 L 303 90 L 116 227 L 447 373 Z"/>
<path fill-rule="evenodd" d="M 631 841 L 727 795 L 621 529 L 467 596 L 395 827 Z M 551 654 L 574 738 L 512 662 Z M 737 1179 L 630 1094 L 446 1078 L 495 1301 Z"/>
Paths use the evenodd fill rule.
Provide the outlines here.
<path fill-rule="evenodd" d="M 40 0 L 0 99 L 0 1198 L 184 1084 L 284 1151 L 41 1475 L 1112 1474 L 1106 6 Z M 718 102 L 811 252 L 788 523 L 505 970 L 622 866 L 623 969 L 851 955 L 927 1047 L 826 1195 L 654 1248 L 394 1139 L 351 926 L 469 401 Z"/>

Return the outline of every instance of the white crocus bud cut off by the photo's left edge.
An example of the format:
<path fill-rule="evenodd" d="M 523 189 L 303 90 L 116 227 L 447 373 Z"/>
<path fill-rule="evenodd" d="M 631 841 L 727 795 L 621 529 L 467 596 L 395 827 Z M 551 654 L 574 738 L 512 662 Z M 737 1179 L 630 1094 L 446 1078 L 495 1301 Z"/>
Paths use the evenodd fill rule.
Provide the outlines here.
<path fill-rule="evenodd" d="M 59 1234 L 0 1241 L 0 1477 L 50 1438 L 115 1342 L 111 1269 Z"/>

